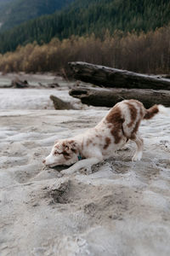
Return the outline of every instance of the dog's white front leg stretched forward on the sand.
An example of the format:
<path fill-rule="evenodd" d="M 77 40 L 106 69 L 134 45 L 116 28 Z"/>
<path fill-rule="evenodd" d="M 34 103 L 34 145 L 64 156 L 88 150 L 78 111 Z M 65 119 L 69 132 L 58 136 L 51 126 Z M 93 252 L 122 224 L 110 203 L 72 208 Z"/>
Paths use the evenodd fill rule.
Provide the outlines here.
<path fill-rule="evenodd" d="M 71 166 L 70 168 L 61 171 L 61 173 L 62 174 L 71 174 L 73 172 L 79 171 L 82 168 L 85 168 L 85 167 L 89 168 L 91 166 L 94 166 L 94 165 L 98 164 L 100 161 L 101 161 L 101 159 L 97 158 L 97 157 L 92 157 L 92 158 L 80 160 L 76 164 Z"/>

